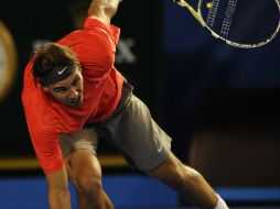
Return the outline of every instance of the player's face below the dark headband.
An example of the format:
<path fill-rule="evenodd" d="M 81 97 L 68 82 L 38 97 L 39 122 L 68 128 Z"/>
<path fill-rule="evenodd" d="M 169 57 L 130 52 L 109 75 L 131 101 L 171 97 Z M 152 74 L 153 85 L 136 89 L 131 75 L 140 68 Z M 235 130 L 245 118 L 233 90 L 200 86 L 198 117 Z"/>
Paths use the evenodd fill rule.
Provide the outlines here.
<path fill-rule="evenodd" d="M 83 102 L 84 79 L 79 69 L 76 69 L 64 80 L 44 87 L 56 101 L 68 106 L 78 107 Z"/>

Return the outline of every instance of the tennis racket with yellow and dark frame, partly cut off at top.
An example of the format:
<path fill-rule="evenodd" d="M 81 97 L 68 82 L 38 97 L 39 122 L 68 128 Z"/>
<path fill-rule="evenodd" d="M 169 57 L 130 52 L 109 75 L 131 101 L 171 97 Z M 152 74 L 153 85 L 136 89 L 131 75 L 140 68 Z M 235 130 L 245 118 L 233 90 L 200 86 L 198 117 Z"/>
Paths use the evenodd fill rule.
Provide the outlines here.
<path fill-rule="evenodd" d="M 278 0 L 200 0 L 197 10 L 184 0 L 172 1 L 187 9 L 214 37 L 231 46 L 262 46 L 279 32 Z"/>

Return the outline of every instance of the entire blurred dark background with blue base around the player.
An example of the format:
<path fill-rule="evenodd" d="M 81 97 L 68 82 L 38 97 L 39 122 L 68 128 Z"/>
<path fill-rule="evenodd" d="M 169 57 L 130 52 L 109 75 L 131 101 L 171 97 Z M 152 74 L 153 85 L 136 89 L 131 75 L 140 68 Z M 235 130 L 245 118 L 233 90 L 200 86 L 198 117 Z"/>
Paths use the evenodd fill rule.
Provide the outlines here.
<path fill-rule="evenodd" d="M 80 29 L 88 2 L 0 7 L 0 208 L 47 208 L 21 103 L 22 76 L 34 47 Z M 173 139 L 175 155 L 229 206 L 280 208 L 280 36 L 263 47 L 235 48 L 171 1 L 123 0 L 112 23 L 121 28 L 116 67 Z M 110 144 L 101 141 L 98 153 L 117 208 L 192 206 L 132 173 Z"/>

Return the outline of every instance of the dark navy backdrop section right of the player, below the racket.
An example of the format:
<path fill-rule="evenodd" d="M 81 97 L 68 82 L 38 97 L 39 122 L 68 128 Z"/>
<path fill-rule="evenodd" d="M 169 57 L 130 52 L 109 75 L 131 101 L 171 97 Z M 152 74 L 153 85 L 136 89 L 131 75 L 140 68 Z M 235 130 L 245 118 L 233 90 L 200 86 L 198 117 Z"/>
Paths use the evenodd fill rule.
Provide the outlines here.
<path fill-rule="evenodd" d="M 187 161 L 195 133 L 204 130 L 278 130 L 279 37 L 263 47 L 236 48 L 213 38 L 170 1 L 163 16 L 164 113 L 181 158 Z M 243 147 L 243 141 L 236 143 Z"/>

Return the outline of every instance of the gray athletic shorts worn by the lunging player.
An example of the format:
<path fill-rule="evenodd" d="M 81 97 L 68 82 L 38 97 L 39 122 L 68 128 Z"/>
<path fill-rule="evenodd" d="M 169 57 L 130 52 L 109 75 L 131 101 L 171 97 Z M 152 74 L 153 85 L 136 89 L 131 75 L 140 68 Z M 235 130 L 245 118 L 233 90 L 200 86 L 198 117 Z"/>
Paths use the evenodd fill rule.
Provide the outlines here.
<path fill-rule="evenodd" d="M 98 138 L 105 138 L 132 168 L 149 172 L 163 163 L 171 150 L 171 138 L 151 118 L 147 106 L 125 82 L 116 111 L 106 120 L 87 124 L 74 134 L 61 135 L 64 157 L 80 148 L 96 154 Z"/>

